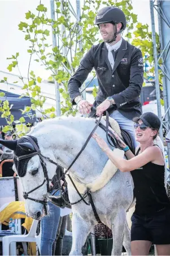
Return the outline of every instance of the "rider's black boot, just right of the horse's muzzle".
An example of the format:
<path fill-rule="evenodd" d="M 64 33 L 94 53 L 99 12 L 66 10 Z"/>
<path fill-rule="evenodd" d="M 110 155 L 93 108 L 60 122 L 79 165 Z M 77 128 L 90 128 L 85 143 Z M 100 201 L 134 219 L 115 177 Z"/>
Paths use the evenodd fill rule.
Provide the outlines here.
<path fill-rule="evenodd" d="M 69 202 L 67 189 L 62 191 L 62 194 L 60 193 L 59 195 L 49 195 L 48 198 L 51 203 L 55 204 L 60 208 L 64 208 L 64 207 L 71 208 L 71 203 Z"/>

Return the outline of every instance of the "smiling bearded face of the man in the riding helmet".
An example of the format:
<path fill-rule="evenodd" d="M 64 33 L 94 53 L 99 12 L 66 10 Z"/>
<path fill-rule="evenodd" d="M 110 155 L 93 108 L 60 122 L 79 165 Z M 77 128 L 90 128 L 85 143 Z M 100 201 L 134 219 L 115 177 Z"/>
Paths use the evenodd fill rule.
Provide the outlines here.
<path fill-rule="evenodd" d="M 104 42 L 110 42 L 115 35 L 115 26 L 112 23 L 101 23 L 99 29 Z"/>

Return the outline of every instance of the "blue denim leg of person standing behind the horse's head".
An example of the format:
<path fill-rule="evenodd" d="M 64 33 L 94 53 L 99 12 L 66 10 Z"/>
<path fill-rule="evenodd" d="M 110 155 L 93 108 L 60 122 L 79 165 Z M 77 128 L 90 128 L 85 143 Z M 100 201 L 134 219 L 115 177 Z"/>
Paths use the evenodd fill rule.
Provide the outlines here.
<path fill-rule="evenodd" d="M 60 208 L 49 202 L 49 215 L 41 220 L 41 255 L 52 255 L 60 219 Z"/>

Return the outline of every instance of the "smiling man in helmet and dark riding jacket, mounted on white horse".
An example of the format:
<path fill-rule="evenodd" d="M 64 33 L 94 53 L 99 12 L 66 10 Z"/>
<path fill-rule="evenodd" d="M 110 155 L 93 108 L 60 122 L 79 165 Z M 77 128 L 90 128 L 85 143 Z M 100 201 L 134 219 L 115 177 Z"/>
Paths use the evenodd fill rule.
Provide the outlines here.
<path fill-rule="evenodd" d="M 127 20 L 120 8 L 102 8 L 95 18 L 95 24 L 99 27 L 103 42 L 93 45 L 82 58 L 79 68 L 68 82 L 68 92 L 72 104 L 77 104 L 79 112 L 90 116 L 92 105 L 82 98 L 79 88 L 94 68 L 99 85 L 93 104 L 97 107 L 97 116 L 107 110 L 110 117 L 119 123 L 120 129 L 132 135 L 136 147 L 132 119 L 142 114 L 142 53 L 121 37 L 127 27 Z M 62 201 L 58 197 L 55 203 L 60 205 Z"/>

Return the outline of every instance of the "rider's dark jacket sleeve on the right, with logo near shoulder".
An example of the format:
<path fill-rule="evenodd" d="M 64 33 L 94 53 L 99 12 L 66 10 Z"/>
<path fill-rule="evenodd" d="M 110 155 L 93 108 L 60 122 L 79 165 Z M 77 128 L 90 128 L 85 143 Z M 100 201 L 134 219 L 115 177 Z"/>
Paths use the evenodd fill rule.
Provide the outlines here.
<path fill-rule="evenodd" d="M 140 49 L 134 52 L 130 64 L 129 87 L 112 96 L 117 108 L 140 96 L 143 84 L 143 57 Z"/>

